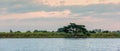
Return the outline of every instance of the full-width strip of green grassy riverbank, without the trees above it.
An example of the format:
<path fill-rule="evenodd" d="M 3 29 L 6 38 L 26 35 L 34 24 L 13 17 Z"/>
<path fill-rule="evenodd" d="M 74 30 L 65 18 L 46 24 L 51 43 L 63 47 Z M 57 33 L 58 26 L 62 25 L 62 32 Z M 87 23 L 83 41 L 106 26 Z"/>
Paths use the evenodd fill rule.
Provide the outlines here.
<path fill-rule="evenodd" d="M 34 34 L 34 33 L 5 33 L 0 34 L 0 38 L 120 38 L 120 34 L 90 34 L 89 36 L 79 34 Z"/>

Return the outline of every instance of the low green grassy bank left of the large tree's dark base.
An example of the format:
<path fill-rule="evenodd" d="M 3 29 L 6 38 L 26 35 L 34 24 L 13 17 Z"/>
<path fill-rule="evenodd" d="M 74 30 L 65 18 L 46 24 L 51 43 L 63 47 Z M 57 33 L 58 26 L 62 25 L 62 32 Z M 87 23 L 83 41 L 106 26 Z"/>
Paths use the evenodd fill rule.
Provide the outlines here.
<path fill-rule="evenodd" d="M 0 38 L 64 38 L 64 34 L 0 34 Z"/>

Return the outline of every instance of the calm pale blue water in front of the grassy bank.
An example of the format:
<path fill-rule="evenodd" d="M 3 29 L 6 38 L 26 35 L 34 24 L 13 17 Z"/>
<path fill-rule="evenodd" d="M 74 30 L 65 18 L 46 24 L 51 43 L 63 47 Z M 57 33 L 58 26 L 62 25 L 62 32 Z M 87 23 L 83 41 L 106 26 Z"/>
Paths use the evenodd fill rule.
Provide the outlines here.
<path fill-rule="evenodd" d="M 0 51 L 120 51 L 120 39 L 0 39 Z"/>

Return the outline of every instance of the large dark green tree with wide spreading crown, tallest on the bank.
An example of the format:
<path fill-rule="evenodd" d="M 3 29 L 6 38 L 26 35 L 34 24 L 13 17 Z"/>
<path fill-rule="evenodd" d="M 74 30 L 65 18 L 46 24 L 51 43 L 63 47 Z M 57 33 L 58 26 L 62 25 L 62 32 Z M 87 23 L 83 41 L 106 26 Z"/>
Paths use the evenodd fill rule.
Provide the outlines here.
<path fill-rule="evenodd" d="M 75 23 L 70 23 L 70 25 L 59 28 L 58 32 L 65 32 L 74 35 L 77 35 L 78 33 L 89 35 L 85 25 L 77 25 Z"/>

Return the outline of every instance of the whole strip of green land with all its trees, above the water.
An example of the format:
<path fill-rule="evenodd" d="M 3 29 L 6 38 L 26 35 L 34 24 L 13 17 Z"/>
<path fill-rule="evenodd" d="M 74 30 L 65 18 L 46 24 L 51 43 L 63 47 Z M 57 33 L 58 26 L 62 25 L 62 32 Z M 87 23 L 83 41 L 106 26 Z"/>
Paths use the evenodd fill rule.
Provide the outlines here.
<path fill-rule="evenodd" d="M 70 23 L 57 31 L 34 30 L 0 32 L 0 38 L 120 38 L 120 31 L 87 30 L 85 25 Z"/>

